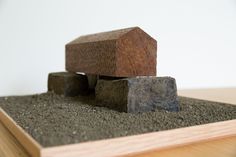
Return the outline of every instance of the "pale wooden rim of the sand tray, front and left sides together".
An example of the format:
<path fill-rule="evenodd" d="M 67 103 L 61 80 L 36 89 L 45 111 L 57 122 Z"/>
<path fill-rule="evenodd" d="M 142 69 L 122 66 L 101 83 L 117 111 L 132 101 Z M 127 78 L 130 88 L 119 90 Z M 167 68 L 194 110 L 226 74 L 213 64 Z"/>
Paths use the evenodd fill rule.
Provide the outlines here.
<path fill-rule="evenodd" d="M 210 102 L 208 102 L 208 104 L 210 105 Z M 217 103 L 216 106 L 220 107 Z M 234 110 L 232 110 L 232 112 L 234 112 Z M 22 127 L 19 126 L 19 124 L 17 124 L 2 108 L 0 108 L 0 120 L 26 150 L 35 157 L 119 156 L 154 149 L 163 150 L 198 141 L 236 135 L 236 120 L 226 120 L 167 131 L 163 130 L 106 140 L 45 147 L 22 129 Z M 129 147 L 127 147 L 127 145 Z"/>

